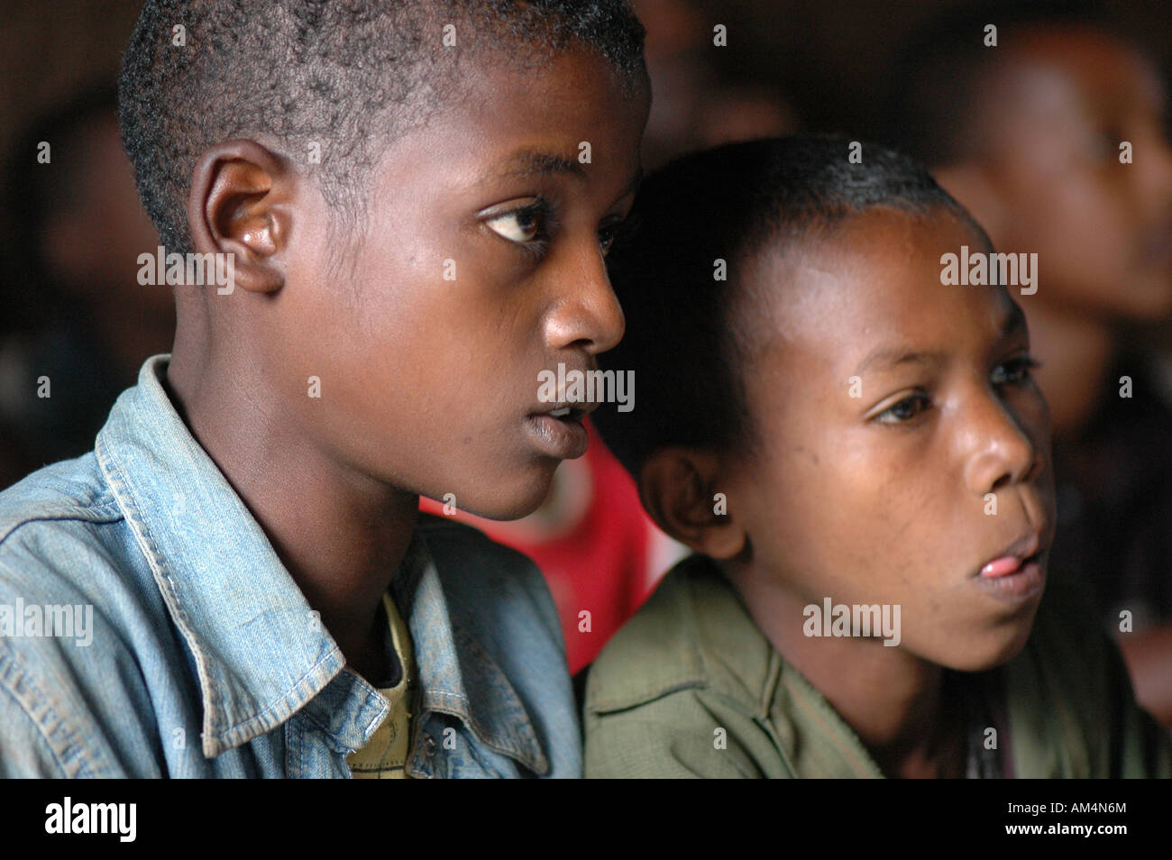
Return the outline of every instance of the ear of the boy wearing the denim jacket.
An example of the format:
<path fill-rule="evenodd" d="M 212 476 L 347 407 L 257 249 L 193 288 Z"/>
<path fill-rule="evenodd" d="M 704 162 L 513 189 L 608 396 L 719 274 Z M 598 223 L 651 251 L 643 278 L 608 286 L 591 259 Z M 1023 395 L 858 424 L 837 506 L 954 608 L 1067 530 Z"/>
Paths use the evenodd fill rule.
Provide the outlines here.
<path fill-rule="evenodd" d="M 289 236 L 293 177 L 254 141 L 227 141 L 196 163 L 188 197 L 195 251 L 233 254 L 234 284 L 273 293 L 285 284 L 279 253 Z"/>

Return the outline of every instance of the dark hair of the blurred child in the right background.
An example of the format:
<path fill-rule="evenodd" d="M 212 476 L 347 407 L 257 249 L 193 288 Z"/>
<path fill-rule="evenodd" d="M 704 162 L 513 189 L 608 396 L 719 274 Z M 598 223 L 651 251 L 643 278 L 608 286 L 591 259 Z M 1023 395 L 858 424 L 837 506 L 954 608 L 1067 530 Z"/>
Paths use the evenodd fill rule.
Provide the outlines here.
<path fill-rule="evenodd" d="M 996 47 L 984 45 L 990 23 Z M 1020 33 L 1045 25 L 1112 29 L 1092 0 L 986 0 L 929 18 L 905 41 L 887 76 L 877 138 L 931 168 L 976 155 L 987 124 L 988 73 Z"/>

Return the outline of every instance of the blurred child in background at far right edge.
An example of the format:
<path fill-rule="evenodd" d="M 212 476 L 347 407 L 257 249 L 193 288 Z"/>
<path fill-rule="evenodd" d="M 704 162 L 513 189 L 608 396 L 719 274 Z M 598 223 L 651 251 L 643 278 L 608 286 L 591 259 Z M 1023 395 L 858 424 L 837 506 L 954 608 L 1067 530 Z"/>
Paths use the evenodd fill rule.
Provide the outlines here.
<path fill-rule="evenodd" d="M 1139 701 L 1172 725 L 1172 409 L 1131 337 L 1172 315 L 1167 107 L 1158 69 L 1095 16 L 966 6 L 911 40 L 883 137 L 999 252 L 1037 254 L 1018 301 L 1054 422 L 1051 567 L 1091 586 Z"/>

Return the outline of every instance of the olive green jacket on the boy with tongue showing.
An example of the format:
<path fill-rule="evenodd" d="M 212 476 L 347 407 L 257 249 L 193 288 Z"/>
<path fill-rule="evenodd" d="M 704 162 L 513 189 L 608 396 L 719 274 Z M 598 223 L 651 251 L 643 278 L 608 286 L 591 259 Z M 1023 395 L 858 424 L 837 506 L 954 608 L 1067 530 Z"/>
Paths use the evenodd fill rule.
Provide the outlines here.
<path fill-rule="evenodd" d="M 1055 579 L 1022 653 L 984 674 L 1002 674 L 1013 776 L 1172 776 L 1168 732 L 1137 707 L 1081 594 Z M 884 776 L 702 555 L 607 643 L 584 721 L 587 778 Z"/>

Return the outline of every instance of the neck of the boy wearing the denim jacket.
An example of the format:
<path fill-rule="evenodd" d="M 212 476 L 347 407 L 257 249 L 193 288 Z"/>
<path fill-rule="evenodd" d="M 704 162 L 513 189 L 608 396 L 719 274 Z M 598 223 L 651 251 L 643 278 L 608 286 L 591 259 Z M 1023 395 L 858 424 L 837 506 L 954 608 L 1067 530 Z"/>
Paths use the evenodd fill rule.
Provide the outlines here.
<path fill-rule="evenodd" d="M 166 388 L 176 410 L 260 524 L 347 661 L 372 683 L 384 670 L 382 595 L 407 553 L 418 496 L 332 460 L 282 423 L 271 387 L 240 380 L 246 360 L 189 359 L 177 340 Z M 306 623 L 314 620 L 306 619 Z"/>

